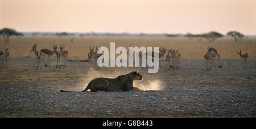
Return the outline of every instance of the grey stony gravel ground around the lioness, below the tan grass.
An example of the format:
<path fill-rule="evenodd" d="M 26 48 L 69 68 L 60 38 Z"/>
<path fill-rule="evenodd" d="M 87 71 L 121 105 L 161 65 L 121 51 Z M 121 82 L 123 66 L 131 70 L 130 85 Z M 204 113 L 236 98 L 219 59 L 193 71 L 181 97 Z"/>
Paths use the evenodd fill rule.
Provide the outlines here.
<path fill-rule="evenodd" d="M 143 68 L 94 70 L 90 62 L 35 70 L 34 58 L 13 58 L 9 70 L 0 69 L 0 117 L 256 117 L 256 61 L 246 70 L 241 63 L 216 61 L 205 71 L 203 60 L 181 60 L 177 70 L 147 74 Z M 59 92 L 134 70 L 143 75 L 134 85 L 148 91 Z"/>

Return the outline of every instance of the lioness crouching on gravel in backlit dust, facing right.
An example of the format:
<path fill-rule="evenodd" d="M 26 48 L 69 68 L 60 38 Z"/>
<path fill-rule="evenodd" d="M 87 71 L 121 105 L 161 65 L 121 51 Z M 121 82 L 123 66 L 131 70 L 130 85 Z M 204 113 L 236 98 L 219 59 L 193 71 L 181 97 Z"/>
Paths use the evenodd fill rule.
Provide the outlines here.
<path fill-rule="evenodd" d="M 130 72 L 126 75 L 120 75 L 115 79 L 96 78 L 90 81 L 84 91 L 90 89 L 91 92 L 96 91 L 142 91 L 137 87 L 133 87 L 134 80 L 142 80 L 142 75 L 138 71 Z M 63 91 L 60 92 L 70 92 Z"/>

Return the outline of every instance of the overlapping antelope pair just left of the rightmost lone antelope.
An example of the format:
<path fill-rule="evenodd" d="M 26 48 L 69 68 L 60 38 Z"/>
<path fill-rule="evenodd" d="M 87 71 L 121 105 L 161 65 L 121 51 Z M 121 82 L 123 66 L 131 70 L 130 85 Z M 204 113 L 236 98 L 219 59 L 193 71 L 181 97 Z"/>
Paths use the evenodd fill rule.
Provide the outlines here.
<path fill-rule="evenodd" d="M 220 54 L 218 54 L 217 50 L 208 46 L 207 48 L 207 54 L 204 55 L 204 59 L 206 61 L 206 65 L 207 65 L 207 70 L 211 70 L 212 69 L 212 63 L 213 63 L 213 58 L 218 57 L 218 59 L 220 59 Z"/>

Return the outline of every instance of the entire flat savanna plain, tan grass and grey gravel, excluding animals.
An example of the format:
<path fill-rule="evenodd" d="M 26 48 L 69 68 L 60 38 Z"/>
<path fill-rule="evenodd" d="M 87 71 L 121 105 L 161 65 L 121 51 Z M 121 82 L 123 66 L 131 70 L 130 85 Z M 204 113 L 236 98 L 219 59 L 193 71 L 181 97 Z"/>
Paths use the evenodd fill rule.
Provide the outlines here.
<path fill-rule="evenodd" d="M 255 66 L 256 39 L 234 42 L 220 38 L 210 43 L 199 38 L 156 37 L 11 37 L 0 49 L 9 46 L 10 68 L 0 69 L 0 117 L 256 117 Z M 249 40 L 251 42 L 249 42 Z M 67 67 L 51 65 L 36 70 L 31 53 L 51 49 L 53 44 L 66 46 L 69 59 L 87 59 L 90 45 L 115 47 L 160 46 L 177 49 L 181 54 L 180 68 L 172 70 L 162 58 L 156 74 L 147 68 L 101 68 L 92 62 L 68 62 Z M 208 46 L 221 54 L 213 69 L 205 70 L 203 56 Z M 247 51 L 247 69 L 236 53 Z M 117 56 L 116 56 L 117 57 Z M 45 58 L 48 62 L 47 57 Z M 219 68 L 218 66 L 222 66 Z M 60 89 L 82 91 L 96 77 L 115 78 L 138 70 L 142 81 L 134 86 L 139 92 L 59 92 Z"/>

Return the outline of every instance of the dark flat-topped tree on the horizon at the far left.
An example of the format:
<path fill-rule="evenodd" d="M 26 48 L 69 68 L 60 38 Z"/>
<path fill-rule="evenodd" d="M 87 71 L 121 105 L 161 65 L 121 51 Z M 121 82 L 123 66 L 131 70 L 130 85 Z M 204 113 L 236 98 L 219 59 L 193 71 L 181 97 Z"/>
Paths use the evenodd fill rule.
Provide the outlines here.
<path fill-rule="evenodd" d="M 3 28 L 0 30 L 0 35 L 5 38 L 5 43 L 9 43 L 10 36 L 23 36 L 23 33 L 16 32 L 15 29 Z"/>

